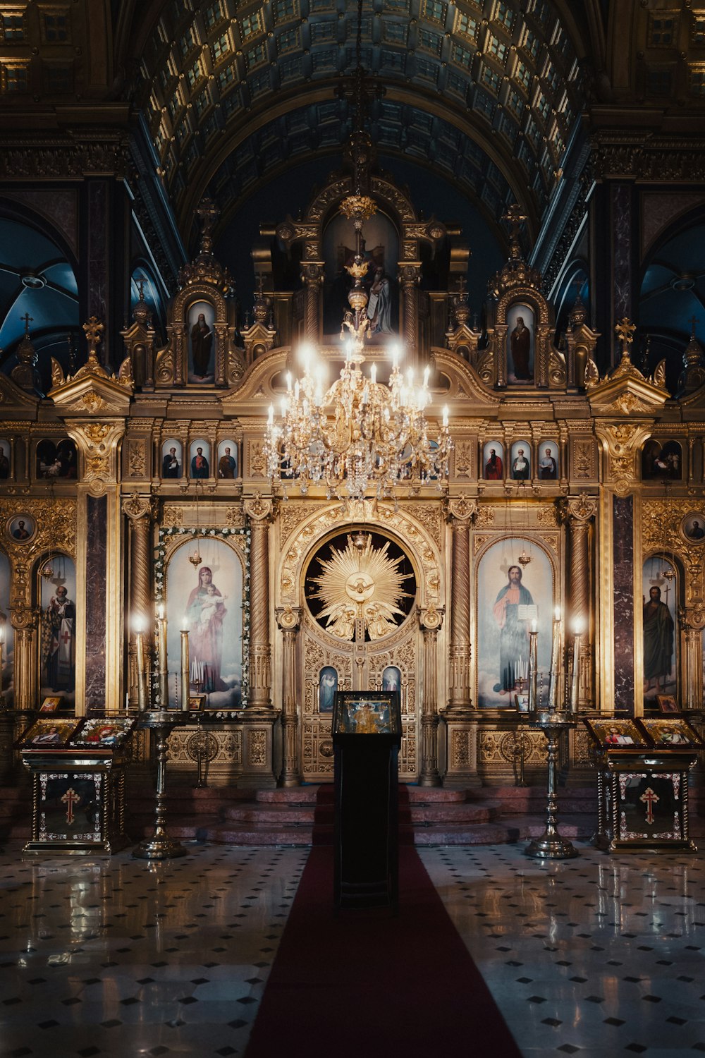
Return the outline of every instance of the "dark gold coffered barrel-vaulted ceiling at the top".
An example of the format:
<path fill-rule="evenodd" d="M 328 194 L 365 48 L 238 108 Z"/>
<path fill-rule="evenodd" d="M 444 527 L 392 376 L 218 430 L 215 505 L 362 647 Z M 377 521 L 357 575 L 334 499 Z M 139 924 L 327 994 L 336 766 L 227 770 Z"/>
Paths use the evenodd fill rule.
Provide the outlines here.
<path fill-rule="evenodd" d="M 270 164 L 339 151 L 349 114 L 336 89 L 354 67 L 356 8 L 352 0 L 162 6 L 138 94 L 182 231 L 209 185 L 238 200 Z M 576 44 L 557 4 L 370 0 L 363 65 L 387 87 L 372 123 L 388 156 L 446 165 L 495 218 L 518 197 L 537 224 L 580 106 Z"/>

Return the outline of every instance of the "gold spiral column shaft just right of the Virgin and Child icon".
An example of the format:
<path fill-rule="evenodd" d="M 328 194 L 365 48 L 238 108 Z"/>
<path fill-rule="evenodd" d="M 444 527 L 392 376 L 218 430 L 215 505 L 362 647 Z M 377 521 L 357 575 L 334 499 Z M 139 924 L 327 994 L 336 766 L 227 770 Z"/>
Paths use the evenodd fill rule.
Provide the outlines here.
<path fill-rule="evenodd" d="M 272 501 L 256 496 L 244 504 L 249 517 L 249 708 L 272 709 L 270 639 L 270 521 Z"/>

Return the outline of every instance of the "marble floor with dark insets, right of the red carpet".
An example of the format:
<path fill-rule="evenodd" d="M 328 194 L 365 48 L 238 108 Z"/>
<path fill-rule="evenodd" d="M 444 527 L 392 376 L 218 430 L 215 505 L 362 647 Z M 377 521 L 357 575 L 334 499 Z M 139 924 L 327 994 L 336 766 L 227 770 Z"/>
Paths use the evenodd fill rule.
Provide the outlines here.
<path fill-rule="evenodd" d="M 705 1053 L 705 854 L 524 847 L 420 855 L 525 1058 Z"/>

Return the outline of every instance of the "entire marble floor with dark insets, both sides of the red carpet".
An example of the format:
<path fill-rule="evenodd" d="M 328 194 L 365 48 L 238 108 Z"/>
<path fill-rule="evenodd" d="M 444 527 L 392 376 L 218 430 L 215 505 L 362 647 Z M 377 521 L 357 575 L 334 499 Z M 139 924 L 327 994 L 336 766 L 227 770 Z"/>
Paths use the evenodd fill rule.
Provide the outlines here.
<path fill-rule="evenodd" d="M 308 850 L 187 847 L 150 864 L 7 843 L 2 1058 L 244 1053 Z M 705 855 L 577 847 L 420 853 L 526 1058 L 705 1053 Z"/>

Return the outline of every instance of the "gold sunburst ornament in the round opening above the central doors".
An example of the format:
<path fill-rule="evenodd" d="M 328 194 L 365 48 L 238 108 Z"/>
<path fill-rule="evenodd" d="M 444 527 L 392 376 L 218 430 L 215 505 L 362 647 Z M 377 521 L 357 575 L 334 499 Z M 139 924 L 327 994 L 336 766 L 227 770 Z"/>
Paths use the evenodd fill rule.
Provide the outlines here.
<path fill-rule="evenodd" d="M 412 574 L 400 572 L 404 555 L 392 559 L 388 550 L 389 541 L 375 548 L 372 534 L 357 530 L 348 535 L 342 551 L 333 547 L 332 558 L 320 560 L 323 571 L 313 578 L 318 589 L 311 598 L 323 603 L 318 620 L 328 618 L 327 632 L 354 639 L 358 621 L 370 639 L 396 631 L 396 618 L 405 616 L 398 602 L 412 597 L 404 581 Z"/>

